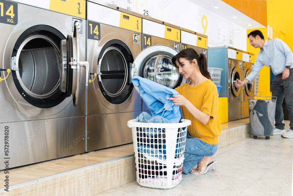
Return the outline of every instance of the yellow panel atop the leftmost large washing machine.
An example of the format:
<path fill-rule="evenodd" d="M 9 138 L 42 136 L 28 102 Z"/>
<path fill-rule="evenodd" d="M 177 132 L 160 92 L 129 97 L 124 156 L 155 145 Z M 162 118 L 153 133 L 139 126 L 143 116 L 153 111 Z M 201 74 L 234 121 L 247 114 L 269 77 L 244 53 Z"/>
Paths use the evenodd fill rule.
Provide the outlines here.
<path fill-rule="evenodd" d="M 83 19 L 86 18 L 86 1 L 84 0 L 51 0 L 49 9 Z"/>

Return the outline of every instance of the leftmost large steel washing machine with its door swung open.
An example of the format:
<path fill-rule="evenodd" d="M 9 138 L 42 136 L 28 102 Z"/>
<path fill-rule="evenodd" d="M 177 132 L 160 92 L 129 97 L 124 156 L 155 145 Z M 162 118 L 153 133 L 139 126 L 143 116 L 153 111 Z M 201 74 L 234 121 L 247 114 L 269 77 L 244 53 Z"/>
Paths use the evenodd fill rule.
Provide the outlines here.
<path fill-rule="evenodd" d="M 38 4 L 47 7 L 0 0 L 0 158 L 9 168 L 85 152 L 85 1 Z"/>

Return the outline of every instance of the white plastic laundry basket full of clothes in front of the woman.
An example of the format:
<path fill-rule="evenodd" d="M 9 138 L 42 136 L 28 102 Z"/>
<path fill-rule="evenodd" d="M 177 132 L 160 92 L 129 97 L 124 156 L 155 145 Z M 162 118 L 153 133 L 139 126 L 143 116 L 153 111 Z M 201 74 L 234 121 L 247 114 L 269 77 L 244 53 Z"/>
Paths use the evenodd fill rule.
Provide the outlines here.
<path fill-rule="evenodd" d="M 187 126 L 181 123 L 138 123 L 129 120 L 132 129 L 136 177 L 139 185 L 169 189 L 182 179 Z"/>

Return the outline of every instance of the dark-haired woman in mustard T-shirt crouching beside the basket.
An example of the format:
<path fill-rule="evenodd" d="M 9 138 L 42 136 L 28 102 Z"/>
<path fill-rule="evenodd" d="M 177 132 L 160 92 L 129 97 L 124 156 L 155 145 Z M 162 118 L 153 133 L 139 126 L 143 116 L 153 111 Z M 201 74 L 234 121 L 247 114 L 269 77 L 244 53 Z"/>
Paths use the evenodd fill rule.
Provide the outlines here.
<path fill-rule="evenodd" d="M 209 167 L 215 170 L 217 161 L 211 161 L 218 148 L 221 125 L 218 116 L 218 91 L 207 71 L 207 58 L 186 48 L 172 58 L 179 73 L 191 82 L 175 88 L 179 95 L 168 98 L 180 105 L 184 119 L 191 120 L 185 143 L 183 173 L 205 174 Z M 197 168 L 191 170 L 197 164 Z"/>

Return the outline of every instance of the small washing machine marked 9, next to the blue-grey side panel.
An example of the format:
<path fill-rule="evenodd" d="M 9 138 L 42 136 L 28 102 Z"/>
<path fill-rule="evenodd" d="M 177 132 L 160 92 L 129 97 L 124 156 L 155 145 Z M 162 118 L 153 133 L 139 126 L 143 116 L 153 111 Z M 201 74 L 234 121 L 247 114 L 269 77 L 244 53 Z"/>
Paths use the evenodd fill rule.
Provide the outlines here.
<path fill-rule="evenodd" d="M 236 87 L 236 79 L 242 80 L 242 51 L 228 47 L 228 121 L 243 118 L 242 87 Z"/>

